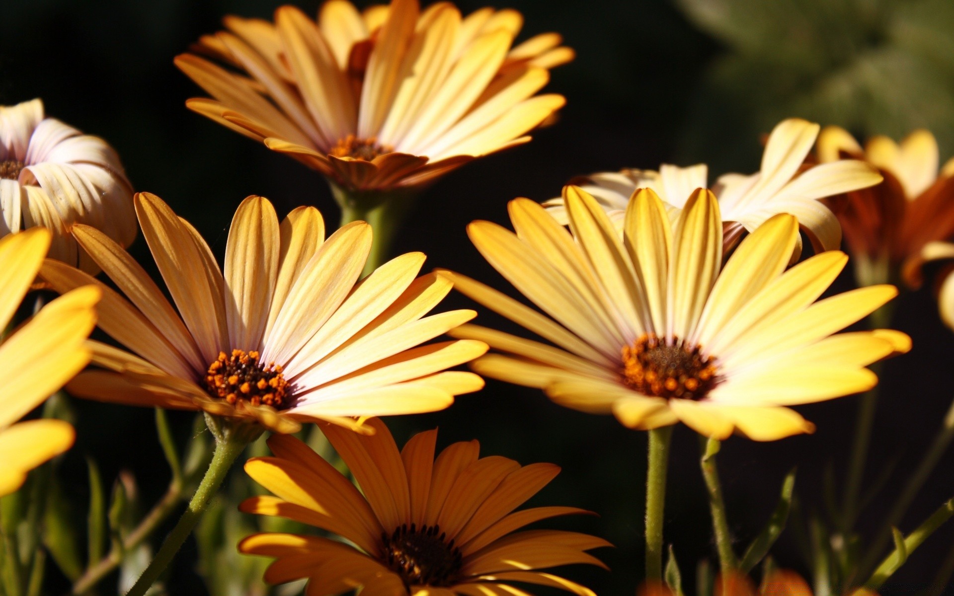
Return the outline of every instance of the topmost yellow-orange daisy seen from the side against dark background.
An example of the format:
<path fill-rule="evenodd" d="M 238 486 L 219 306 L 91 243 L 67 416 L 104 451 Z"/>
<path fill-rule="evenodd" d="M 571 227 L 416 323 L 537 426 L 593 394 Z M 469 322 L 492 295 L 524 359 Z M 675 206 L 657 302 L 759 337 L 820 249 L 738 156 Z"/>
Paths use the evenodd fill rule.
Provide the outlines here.
<path fill-rule="evenodd" d="M 474 157 L 524 143 L 564 104 L 534 95 L 569 62 L 556 33 L 510 48 L 523 17 L 394 0 L 360 13 L 324 3 L 314 21 L 229 16 L 176 66 L 213 99 L 186 105 L 318 170 L 349 193 L 418 187 Z"/>

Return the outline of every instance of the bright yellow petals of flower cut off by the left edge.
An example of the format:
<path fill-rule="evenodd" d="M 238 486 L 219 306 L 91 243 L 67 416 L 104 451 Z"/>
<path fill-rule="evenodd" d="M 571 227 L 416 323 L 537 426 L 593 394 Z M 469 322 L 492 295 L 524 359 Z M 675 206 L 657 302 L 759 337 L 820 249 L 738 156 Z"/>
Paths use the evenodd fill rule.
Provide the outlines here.
<path fill-rule="evenodd" d="M 0 238 L 0 333 L 30 289 L 51 234 L 37 228 Z M 99 291 L 75 290 L 43 307 L 0 342 L 0 497 L 19 488 L 27 472 L 73 445 L 64 421 L 16 422 L 58 391 L 87 362 L 83 341 L 96 322 Z"/>

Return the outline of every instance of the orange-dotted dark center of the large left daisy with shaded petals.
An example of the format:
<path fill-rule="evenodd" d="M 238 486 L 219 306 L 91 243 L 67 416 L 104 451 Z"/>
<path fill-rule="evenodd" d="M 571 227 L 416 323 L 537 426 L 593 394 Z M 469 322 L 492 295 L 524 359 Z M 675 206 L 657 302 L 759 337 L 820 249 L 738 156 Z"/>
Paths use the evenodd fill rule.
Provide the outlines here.
<path fill-rule="evenodd" d="M 209 364 L 205 384 L 212 395 L 229 403 L 244 400 L 283 410 L 290 401 L 288 381 L 281 374 L 281 366 L 274 362 L 262 366 L 255 351 L 232 350 L 232 356 L 219 352 L 218 360 Z"/>

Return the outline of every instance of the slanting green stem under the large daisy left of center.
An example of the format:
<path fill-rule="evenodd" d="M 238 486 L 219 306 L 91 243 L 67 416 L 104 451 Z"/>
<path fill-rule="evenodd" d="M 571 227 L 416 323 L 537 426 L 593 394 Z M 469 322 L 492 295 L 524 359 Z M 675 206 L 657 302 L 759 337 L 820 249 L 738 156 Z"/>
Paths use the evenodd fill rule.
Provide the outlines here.
<path fill-rule="evenodd" d="M 245 449 L 248 443 L 248 437 L 239 432 L 226 432 L 221 436 L 217 436 L 216 450 L 212 454 L 212 462 L 209 463 L 209 469 L 206 470 L 205 476 L 202 477 L 202 481 L 198 484 L 196 494 L 193 495 L 189 506 L 186 507 L 182 517 L 179 518 L 176 527 L 173 528 L 173 531 L 166 537 L 165 542 L 162 543 L 152 563 L 146 567 L 146 570 L 139 576 L 139 579 L 136 580 L 135 585 L 126 593 L 126 596 L 143 596 L 146 590 L 156 582 L 166 567 L 172 563 L 176 552 L 178 552 L 178 549 L 185 543 L 186 539 L 189 538 L 189 534 L 191 534 L 193 528 L 196 527 L 205 508 L 218 492 L 218 487 L 222 481 L 225 480 L 225 476 L 232 467 L 232 463 L 235 462 L 236 458 L 239 457 L 239 454 Z"/>

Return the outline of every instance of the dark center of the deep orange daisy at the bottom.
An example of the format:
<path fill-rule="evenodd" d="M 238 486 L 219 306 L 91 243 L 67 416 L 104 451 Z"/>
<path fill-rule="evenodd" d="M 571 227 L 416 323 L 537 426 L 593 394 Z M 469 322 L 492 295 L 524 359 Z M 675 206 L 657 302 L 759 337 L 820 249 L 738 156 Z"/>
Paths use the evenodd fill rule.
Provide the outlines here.
<path fill-rule="evenodd" d="M 445 536 L 439 525 L 403 524 L 390 536 L 382 533 L 384 563 L 401 576 L 404 586 L 451 586 L 463 555 Z"/>

